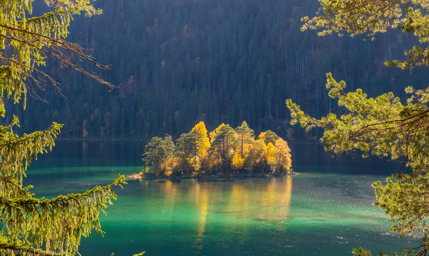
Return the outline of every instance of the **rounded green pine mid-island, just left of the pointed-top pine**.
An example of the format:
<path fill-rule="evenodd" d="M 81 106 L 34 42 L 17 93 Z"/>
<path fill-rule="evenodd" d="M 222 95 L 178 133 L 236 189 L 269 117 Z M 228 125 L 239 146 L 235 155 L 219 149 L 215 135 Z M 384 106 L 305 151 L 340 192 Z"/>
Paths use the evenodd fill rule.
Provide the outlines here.
<path fill-rule="evenodd" d="M 211 143 L 212 150 L 218 150 L 222 159 L 226 164 L 228 171 L 229 151 L 236 145 L 236 133 L 230 125 L 221 125 L 219 130 L 216 131 L 215 138 Z"/>

